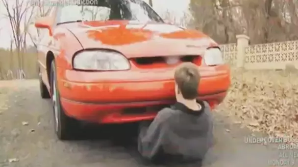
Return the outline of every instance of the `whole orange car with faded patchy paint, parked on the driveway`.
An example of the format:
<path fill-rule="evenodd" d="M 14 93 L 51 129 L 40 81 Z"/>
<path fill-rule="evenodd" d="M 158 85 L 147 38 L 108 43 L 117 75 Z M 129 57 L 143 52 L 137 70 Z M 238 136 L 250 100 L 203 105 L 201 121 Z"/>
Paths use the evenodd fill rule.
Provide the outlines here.
<path fill-rule="evenodd" d="M 142 0 L 57 5 L 39 18 L 40 93 L 51 98 L 55 131 L 70 139 L 78 120 L 100 124 L 151 120 L 173 104 L 174 68 L 198 65 L 199 99 L 220 104 L 230 85 L 218 44 L 165 23 Z"/>

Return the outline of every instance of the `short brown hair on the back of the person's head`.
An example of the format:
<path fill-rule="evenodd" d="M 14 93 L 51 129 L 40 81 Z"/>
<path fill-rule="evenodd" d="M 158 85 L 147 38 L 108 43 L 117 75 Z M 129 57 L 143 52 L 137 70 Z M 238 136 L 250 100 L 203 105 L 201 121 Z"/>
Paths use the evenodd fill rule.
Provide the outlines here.
<path fill-rule="evenodd" d="M 174 80 L 184 99 L 192 100 L 198 97 L 199 69 L 194 63 L 182 63 L 175 69 Z"/>

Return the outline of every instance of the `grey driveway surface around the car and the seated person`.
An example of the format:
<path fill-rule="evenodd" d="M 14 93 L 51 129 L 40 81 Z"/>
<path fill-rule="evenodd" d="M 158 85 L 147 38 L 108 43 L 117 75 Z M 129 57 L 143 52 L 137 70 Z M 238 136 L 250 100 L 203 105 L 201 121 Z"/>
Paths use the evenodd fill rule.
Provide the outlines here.
<path fill-rule="evenodd" d="M 38 88 L 37 80 L 0 82 L 0 167 L 146 167 L 137 156 L 134 124 L 87 125 L 80 140 L 58 141 L 50 100 L 42 100 Z M 270 162 L 281 150 L 245 143 L 245 137 L 260 134 L 221 113 L 214 118 L 216 142 L 205 167 L 278 166 Z M 281 166 L 298 167 L 298 161 Z"/>

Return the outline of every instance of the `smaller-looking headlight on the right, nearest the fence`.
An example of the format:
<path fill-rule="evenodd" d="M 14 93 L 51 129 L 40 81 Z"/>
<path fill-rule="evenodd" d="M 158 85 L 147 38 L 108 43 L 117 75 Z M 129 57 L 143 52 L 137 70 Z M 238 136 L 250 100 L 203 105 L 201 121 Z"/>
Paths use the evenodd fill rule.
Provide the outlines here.
<path fill-rule="evenodd" d="M 206 65 L 224 64 L 223 53 L 219 48 L 207 49 L 203 58 Z"/>

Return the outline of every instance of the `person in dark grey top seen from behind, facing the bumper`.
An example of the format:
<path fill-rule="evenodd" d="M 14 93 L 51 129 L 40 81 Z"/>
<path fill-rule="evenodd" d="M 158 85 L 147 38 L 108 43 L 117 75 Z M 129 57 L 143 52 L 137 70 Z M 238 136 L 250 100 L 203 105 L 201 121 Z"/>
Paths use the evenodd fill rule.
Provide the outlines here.
<path fill-rule="evenodd" d="M 182 63 L 174 73 L 176 103 L 140 123 L 138 150 L 155 164 L 201 162 L 212 146 L 213 125 L 208 103 L 198 101 L 198 67 Z"/>

